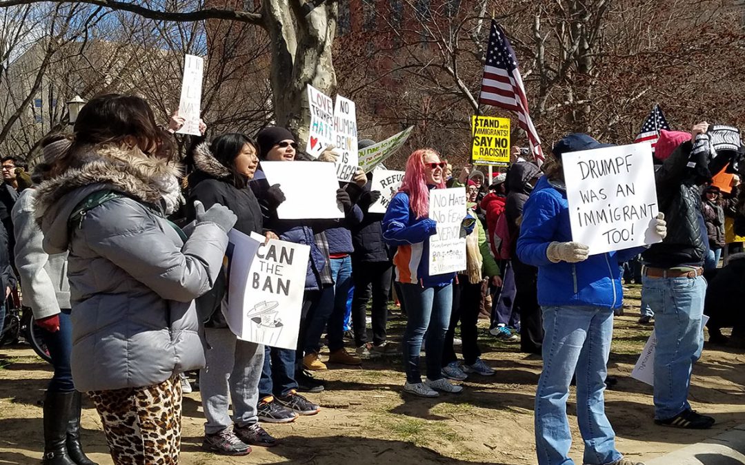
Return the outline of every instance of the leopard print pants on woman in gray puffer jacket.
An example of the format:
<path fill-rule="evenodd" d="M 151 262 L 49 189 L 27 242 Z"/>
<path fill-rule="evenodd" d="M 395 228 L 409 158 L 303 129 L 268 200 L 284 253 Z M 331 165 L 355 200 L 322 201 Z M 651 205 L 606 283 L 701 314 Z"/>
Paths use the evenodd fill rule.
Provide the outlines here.
<path fill-rule="evenodd" d="M 181 383 L 90 391 L 115 465 L 176 465 L 181 450 Z"/>

